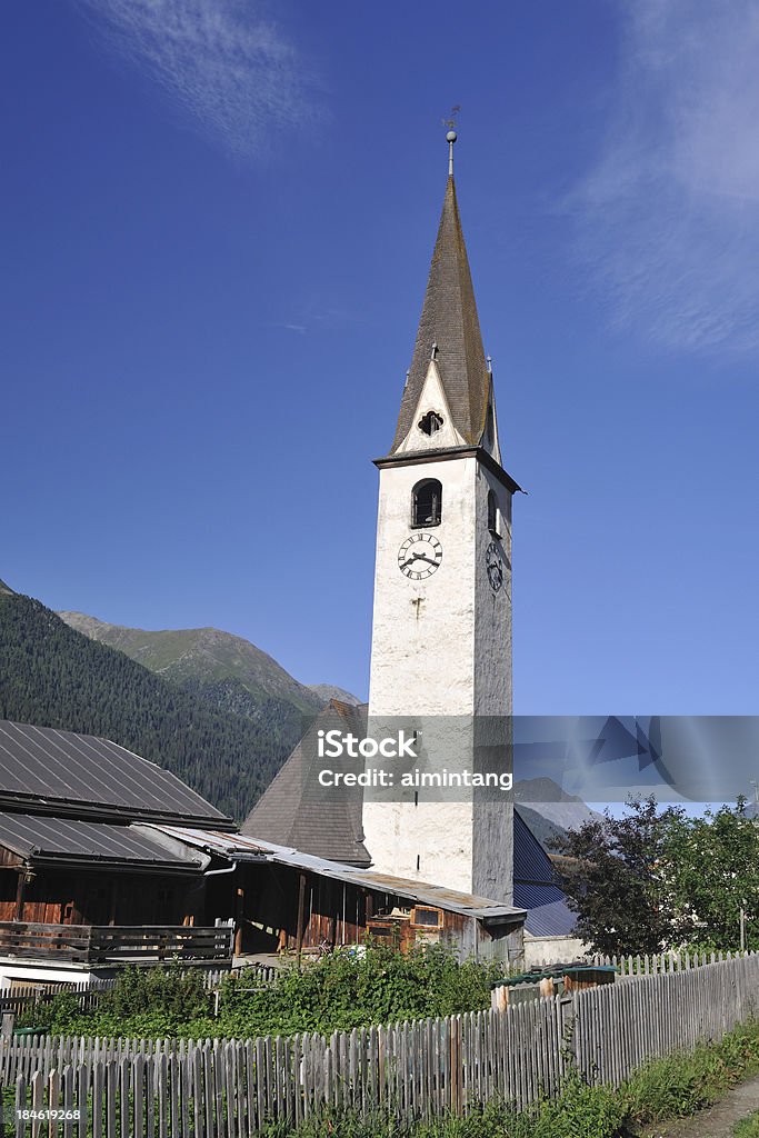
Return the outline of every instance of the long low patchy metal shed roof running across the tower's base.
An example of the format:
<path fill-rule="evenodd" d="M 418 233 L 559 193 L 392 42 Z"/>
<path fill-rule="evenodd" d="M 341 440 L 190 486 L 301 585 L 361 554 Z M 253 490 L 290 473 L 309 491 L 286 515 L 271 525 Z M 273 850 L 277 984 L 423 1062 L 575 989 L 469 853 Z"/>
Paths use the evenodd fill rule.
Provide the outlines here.
<path fill-rule="evenodd" d="M 162 833 L 180 841 L 188 842 L 199 849 L 217 853 L 231 861 L 272 861 L 275 865 L 287 865 L 296 869 L 306 869 L 322 877 L 345 881 L 361 889 L 374 892 L 390 893 L 422 905 L 436 905 L 449 913 L 487 920 L 521 921 L 523 909 L 512 905 L 502 905 L 487 897 L 475 897 L 471 893 L 460 893 L 443 885 L 412 881 L 409 877 L 391 877 L 388 874 L 374 873 L 372 869 L 358 869 L 339 861 L 328 861 L 325 858 L 312 857 L 299 850 L 287 849 L 272 842 L 246 838 L 244 834 L 224 834 L 214 831 L 192 830 L 184 826 L 156 826 Z"/>

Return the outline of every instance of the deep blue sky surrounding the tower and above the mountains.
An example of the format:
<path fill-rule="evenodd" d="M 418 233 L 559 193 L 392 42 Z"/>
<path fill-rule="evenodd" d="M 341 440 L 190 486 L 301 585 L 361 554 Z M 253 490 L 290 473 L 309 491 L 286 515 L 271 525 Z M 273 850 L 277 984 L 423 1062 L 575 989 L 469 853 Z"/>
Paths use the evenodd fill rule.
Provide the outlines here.
<path fill-rule="evenodd" d="M 757 711 L 759 3 L 3 10 L 0 577 L 365 695 L 446 148 L 522 714 Z"/>

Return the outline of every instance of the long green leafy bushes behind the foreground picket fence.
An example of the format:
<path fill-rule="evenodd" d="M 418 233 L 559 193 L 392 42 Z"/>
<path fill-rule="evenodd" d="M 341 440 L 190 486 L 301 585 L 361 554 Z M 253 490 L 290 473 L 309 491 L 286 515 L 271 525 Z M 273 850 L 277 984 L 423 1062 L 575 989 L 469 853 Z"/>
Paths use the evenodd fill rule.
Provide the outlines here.
<path fill-rule="evenodd" d="M 477 1012 L 490 1006 L 490 983 L 500 965 L 459 964 L 444 948 L 403 956 L 391 946 L 369 943 L 362 955 L 338 950 L 321 959 L 287 965 L 262 984 L 254 970 L 226 978 L 218 1016 L 203 974 L 179 965 L 125 968 L 116 987 L 91 1011 L 76 996 L 61 995 L 26 1013 L 58 1034 L 175 1036 L 191 1039 L 330 1033 L 370 1024 Z"/>

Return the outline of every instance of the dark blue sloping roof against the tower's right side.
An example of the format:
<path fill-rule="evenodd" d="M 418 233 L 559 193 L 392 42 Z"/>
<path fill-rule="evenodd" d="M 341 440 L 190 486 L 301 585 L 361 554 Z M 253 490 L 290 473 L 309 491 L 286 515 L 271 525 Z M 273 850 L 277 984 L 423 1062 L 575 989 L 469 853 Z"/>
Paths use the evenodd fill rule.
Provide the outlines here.
<path fill-rule="evenodd" d="M 533 937 L 566 937 L 577 916 L 559 888 L 551 858 L 514 807 L 514 905 L 527 909 L 525 929 Z"/>

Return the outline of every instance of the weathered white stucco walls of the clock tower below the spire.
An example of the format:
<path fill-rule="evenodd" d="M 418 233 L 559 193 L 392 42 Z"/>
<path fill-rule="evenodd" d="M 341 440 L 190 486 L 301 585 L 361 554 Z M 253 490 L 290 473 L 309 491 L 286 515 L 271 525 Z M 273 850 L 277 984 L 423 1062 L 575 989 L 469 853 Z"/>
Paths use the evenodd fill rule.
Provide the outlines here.
<path fill-rule="evenodd" d="M 423 411 L 423 409 L 421 409 Z M 443 486 L 439 526 L 423 530 L 443 545 L 439 568 L 410 580 L 398 549 L 414 533 L 414 485 Z M 495 489 L 508 523 L 506 579 L 494 594 L 485 553 L 487 494 Z M 385 717 L 424 717 L 424 745 L 445 761 L 475 767 L 472 716 L 511 712 L 511 503 L 509 492 L 473 455 L 380 471 L 370 679 L 370 724 Z M 370 727 L 371 729 L 371 727 Z M 435 735 L 438 739 L 435 739 Z M 508 765 L 504 748 L 503 765 Z M 430 801 L 410 792 L 405 801 L 364 806 L 364 834 L 374 867 L 511 900 L 511 808 L 472 800 Z"/>

